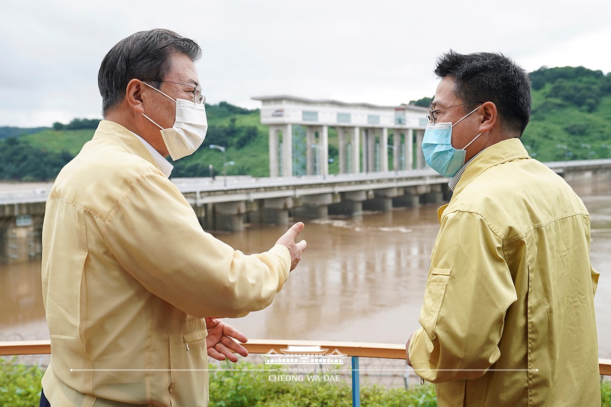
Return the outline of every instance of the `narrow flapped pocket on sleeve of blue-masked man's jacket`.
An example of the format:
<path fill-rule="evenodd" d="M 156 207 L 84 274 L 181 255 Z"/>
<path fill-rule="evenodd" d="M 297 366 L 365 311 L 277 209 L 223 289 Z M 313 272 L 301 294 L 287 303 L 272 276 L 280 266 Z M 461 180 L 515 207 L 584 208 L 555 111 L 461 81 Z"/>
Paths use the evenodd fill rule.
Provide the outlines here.
<path fill-rule="evenodd" d="M 437 318 L 444 301 L 445 287 L 447 287 L 451 272 L 450 268 L 433 268 L 426 284 L 419 321 L 430 340 L 437 337 L 435 333 Z"/>

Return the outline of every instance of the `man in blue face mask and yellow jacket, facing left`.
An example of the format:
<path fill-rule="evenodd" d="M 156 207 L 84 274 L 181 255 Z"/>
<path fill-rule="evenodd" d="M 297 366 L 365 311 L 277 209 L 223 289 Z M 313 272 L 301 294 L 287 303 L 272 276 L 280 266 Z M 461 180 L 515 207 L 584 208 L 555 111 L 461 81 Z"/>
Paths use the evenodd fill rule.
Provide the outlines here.
<path fill-rule="evenodd" d="M 590 217 L 522 146 L 529 77 L 485 52 L 435 73 L 422 149 L 453 196 L 408 361 L 440 407 L 600 406 Z"/>

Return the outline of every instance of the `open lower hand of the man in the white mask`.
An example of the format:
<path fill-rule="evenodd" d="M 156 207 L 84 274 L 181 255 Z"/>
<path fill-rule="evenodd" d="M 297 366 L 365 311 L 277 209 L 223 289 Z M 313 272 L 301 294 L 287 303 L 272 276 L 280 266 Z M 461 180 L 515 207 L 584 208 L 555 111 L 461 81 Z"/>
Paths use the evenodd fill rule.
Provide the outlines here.
<path fill-rule="evenodd" d="M 216 318 L 205 318 L 206 329 L 208 336 L 206 337 L 206 347 L 208 348 L 208 356 L 218 361 L 229 359 L 232 362 L 238 361 L 238 356 L 233 355 L 233 352 L 238 355 L 248 356 L 248 351 L 242 345 L 238 344 L 235 338 L 246 343 L 248 338 L 243 333 L 233 328 L 233 326 L 222 322 Z"/>

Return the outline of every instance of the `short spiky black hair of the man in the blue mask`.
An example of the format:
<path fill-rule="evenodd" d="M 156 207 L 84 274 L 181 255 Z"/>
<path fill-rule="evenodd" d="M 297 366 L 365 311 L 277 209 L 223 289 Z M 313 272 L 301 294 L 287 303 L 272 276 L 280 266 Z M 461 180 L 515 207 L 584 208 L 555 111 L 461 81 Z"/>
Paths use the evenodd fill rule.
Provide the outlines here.
<path fill-rule="evenodd" d="M 507 131 L 524 133 L 532 103 L 530 78 L 513 60 L 500 52 L 458 54 L 450 49 L 437 58 L 434 73 L 452 77 L 454 93 L 465 102 L 491 101 Z"/>

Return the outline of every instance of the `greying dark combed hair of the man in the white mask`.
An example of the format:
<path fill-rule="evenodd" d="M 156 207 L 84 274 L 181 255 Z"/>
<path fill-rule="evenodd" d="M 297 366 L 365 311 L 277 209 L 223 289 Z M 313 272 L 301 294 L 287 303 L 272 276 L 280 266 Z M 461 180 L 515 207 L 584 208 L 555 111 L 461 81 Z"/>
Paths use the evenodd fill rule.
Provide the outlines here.
<path fill-rule="evenodd" d="M 175 52 L 185 54 L 193 62 L 202 56 L 196 41 L 166 29 L 136 32 L 115 44 L 98 72 L 103 117 L 121 103 L 132 79 L 155 79 L 155 86 L 161 86 Z"/>

